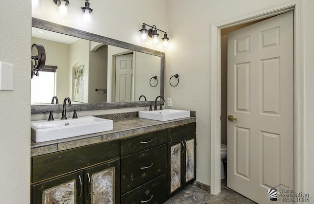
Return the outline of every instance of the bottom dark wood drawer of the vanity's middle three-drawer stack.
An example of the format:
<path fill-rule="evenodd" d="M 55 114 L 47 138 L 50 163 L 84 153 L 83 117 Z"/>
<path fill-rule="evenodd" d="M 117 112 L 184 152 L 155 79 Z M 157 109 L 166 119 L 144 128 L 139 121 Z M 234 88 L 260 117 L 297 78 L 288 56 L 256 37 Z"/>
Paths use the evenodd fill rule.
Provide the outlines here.
<path fill-rule="evenodd" d="M 163 204 L 167 200 L 167 174 L 121 196 L 121 204 Z"/>

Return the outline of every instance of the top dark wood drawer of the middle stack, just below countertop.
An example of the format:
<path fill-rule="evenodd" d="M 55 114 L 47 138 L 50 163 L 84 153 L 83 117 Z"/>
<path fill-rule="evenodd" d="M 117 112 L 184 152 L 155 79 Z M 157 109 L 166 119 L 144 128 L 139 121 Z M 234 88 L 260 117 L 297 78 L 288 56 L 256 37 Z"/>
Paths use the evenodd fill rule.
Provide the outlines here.
<path fill-rule="evenodd" d="M 167 130 L 121 139 L 121 157 L 167 142 Z"/>

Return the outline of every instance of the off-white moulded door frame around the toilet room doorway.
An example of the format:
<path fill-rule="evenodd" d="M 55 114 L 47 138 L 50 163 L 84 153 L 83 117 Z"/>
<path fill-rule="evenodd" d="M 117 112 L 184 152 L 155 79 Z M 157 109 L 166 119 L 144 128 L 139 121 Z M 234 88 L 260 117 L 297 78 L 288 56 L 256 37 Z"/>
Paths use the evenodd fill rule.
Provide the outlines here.
<path fill-rule="evenodd" d="M 220 30 L 267 17 L 294 11 L 294 191 L 304 192 L 305 138 L 304 138 L 304 40 L 302 27 L 302 0 L 289 0 L 229 20 L 211 24 L 210 53 L 210 193 L 220 193 Z"/>

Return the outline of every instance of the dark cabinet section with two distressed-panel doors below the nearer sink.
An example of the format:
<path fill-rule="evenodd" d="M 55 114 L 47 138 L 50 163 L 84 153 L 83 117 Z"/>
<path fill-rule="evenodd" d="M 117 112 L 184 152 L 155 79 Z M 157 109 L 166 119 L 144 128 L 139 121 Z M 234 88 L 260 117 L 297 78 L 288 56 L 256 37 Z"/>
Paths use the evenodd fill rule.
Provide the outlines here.
<path fill-rule="evenodd" d="M 119 140 L 113 140 L 32 158 L 33 181 L 47 179 L 33 182 L 31 204 L 120 204 L 119 145 Z M 114 150 L 106 153 L 108 150 L 104 147 L 114 147 Z M 48 170 L 43 168 L 46 160 L 48 175 L 45 174 Z M 100 162 L 94 164 L 94 161 Z M 83 163 L 86 166 L 82 166 Z M 51 170 L 53 168 L 56 170 Z M 64 170 L 71 168 L 77 169 L 74 173 Z M 34 172 L 40 174 L 34 175 Z M 55 177 L 49 178 L 51 175 Z"/>

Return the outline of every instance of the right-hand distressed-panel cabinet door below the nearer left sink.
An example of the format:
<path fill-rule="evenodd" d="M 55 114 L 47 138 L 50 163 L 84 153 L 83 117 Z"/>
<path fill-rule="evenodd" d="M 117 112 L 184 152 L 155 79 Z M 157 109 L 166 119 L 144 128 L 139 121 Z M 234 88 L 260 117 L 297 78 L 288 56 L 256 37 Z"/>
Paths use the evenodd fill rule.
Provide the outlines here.
<path fill-rule="evenodd" d="M 120 203 L 120 159 L 84 170 L 85 204 Z"/>

